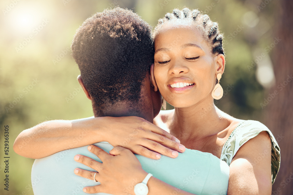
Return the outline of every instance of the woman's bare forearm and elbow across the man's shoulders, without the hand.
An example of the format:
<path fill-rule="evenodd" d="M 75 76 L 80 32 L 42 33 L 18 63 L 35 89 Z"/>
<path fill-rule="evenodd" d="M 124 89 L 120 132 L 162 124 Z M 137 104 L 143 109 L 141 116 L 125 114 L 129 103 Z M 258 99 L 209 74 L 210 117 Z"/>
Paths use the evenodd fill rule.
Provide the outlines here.
<path fill-rule="evenodd" d="M 102 128 L 96 126 L 94 129 L 91 120 L 93 117 L 42 122 L 22 131 L 14 141 L 13 150 L 21 156 L 37 159 L 95 141 L 105 141 Z"/>

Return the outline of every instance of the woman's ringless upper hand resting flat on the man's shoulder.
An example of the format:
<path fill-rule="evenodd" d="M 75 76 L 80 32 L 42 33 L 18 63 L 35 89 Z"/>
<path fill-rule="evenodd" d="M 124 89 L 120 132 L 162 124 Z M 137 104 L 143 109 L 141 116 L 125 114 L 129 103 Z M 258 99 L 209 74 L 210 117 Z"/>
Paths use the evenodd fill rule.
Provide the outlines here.
<path fill-rule="evenodd" d="M 184 152 L 185 146 L 165 130 L 136 116 L 102 117 L 106 121 L 103 126 L 105 141 L 113 146 L 122 146 L 133 153 L 159 159 L 165 156 L 176 158 L 178 152 Z M 98 121 L 98 125 L 101 122 Z"/>

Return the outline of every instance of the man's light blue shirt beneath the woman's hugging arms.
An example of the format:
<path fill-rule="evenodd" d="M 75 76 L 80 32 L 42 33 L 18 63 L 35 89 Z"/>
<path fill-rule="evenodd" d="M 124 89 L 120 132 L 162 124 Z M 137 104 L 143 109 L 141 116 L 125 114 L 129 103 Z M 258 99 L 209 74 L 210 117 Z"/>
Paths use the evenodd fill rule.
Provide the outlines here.
<path fill-rule="evenodd" d="M 99 142 L 94 145 L 108 153 L 113 148 L 108 142 Z M 88 151 L 87 146 L 64 150 L 45 158 L 36 159 L 31 175 L 34 194 L 85 195 L 86 193 L 82 191 L 84 187 L 100 184 L 74 174 L 75 168 L 96 171 L 74 161 L 76 154 L 101 162 L 96 155 Z M 177 158 L 163 155 L 159 160 L 140 155 L 136 155 L 136 157 L 146 172 L 180 190 L 197 195 L 227 194 L 229 166 L 211 153 L 186 149 L 185 152 L 179 153 Z M 127 177 L 131 177 L 131 173 Z"/>

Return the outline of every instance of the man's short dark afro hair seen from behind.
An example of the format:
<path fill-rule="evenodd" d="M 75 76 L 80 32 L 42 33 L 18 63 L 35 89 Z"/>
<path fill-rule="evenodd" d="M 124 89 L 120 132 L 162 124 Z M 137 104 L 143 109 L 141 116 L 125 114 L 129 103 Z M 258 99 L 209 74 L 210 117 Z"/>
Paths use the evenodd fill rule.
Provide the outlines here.
<path fill-rule="evenodd" d="M 76 30 L 71 50 L 96 109 L 139 101 L 154 61 L 151 26 L 139 15 L 119 7 L 92 15 Z"/>

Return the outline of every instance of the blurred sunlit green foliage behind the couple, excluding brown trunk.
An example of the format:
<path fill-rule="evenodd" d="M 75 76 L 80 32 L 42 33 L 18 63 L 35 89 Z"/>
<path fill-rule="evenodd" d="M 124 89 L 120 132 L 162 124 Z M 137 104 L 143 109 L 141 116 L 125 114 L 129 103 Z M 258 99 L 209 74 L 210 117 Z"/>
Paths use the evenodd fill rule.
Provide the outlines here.
<path fill-rule="evenodd" d="M 198 8 L 207 13 L 225 36 L 226 68 L 220 84 L 224 90 L 231 87 L 216 105 L 236 118 L 261 119 L 265 90 L 255 79 L 255 67 L 249 70 L 247 66 L 255 59 L 252 50 L 264 48 L 274 39 L 275 1 L 259 11 L 253 2 L 240 0 L 4 0 L 0 2 L 0 194 L 33 194 L 30 171 L 34 160 L 17 155 L 12 148 L 21 131 L 45 120 L 93 115 L 91 102 L 76 80 L 78 67 L 67 49 L 86 18 L 114 6 L 134 10 L 152 26 L 173 8 Z M 251 38 L 259 32 L 243 24 L 243 15 L 249 11 L 269 24 L 261 37 Z M 240 32 L 238 25 L 243 25 Z M 235 31 L 237 35 L 231 36 Z M 16 49 L 20 44 L 23 49 Z M 9 125 L 9 191 L 4 190 L 2 179 L 4 125 Z"/>

